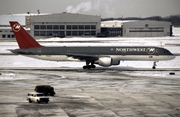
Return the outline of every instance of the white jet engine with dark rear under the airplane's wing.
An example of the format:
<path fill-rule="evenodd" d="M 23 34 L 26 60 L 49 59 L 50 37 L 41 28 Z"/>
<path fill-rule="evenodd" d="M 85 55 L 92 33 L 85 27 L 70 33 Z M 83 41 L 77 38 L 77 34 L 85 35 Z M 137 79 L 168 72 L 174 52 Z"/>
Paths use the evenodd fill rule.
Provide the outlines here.
<path fill-rule="evenodd" d="M 111 65 L 119 65 L 119 60 L 113 60 L 111 57 L 100 57 L 96 62 L 100 66 L 109 67 Z"/>

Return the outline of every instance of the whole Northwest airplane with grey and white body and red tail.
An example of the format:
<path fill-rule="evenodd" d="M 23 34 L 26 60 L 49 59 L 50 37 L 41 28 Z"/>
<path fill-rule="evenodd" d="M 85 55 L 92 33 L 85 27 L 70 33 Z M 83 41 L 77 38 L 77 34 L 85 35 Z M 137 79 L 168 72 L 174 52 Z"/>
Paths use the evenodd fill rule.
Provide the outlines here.
<path fill-rule="evenodd" d="M 9 22 L 19 49 L 10 50 L 36 59 L 50 61 L 85 61 L 83 69 L 96 68 L 95 64 L 104 67 L 119 65 L 120 61 L 153 61 L 172 60 L 175 56 L 167 49 L 154 46 L 60 46 L 45 47 L 40 45 L 16 21 Z"/>

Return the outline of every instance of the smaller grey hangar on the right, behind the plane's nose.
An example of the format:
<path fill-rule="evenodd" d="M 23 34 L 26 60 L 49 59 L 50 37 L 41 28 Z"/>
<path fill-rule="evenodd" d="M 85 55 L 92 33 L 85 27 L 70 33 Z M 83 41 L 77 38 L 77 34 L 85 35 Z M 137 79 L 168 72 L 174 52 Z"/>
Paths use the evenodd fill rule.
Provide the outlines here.
<path fill-rule="evenodd" d="M 163 37 L 172 36 L 171 22 L 131 21 L 123 23 L 123 37 Z"/>

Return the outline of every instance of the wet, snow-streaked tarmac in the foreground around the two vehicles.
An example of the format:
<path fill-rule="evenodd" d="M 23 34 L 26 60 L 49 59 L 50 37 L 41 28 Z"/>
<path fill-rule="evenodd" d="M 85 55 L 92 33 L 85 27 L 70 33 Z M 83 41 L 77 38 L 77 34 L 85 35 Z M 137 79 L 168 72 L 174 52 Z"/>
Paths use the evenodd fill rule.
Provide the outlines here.
<path fill-rule="evenodd" d="M 1 69 L 2 117 L 179 117 L 180 71 L 59 68 Z M 50 84 L 50 102 L 29 103 L 28 92 Z"/>

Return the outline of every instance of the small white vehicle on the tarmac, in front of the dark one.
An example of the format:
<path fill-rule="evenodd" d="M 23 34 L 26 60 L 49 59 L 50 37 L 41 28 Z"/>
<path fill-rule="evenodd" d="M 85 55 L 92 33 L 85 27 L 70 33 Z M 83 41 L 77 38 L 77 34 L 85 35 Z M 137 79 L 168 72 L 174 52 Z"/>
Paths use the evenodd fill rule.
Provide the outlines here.
<path fill-rule="evenodd" d="M 38 92 L 29 92 L 27 95 L 27 100 L 29 101 L 29 103 L 32 103 L 32 102 L 37 102 L 37 103 L 46 102 L 46 103 L 48 103 L 49 102 L 48 97 L 44 96 L 43 93 L 38 93 Z"/>

